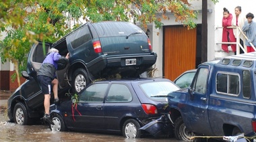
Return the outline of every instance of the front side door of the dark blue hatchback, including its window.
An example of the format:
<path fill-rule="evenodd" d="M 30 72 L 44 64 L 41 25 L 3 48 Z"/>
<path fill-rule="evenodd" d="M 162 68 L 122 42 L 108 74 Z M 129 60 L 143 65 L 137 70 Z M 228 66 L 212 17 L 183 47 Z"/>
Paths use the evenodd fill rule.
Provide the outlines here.
<path fill-rule="evenodd" d="M 73 126 L 80 129 L 104 129 L 103 100 L 108 83 L 88 86 L 79 93 L 77 106 L 74 106 Z"/>

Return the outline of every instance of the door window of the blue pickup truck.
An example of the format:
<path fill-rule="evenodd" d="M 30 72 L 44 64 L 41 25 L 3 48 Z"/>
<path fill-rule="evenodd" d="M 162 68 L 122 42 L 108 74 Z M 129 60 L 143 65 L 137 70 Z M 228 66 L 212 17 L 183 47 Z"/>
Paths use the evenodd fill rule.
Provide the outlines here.
<path fill-rule="evenodd" d="M 197 80 L 193 86 L 195 92 L 205 94 L 206 87 L 207 87 L 207 76 L 208 76 L 208 69 L 200 68 L 197 75 Z"/>

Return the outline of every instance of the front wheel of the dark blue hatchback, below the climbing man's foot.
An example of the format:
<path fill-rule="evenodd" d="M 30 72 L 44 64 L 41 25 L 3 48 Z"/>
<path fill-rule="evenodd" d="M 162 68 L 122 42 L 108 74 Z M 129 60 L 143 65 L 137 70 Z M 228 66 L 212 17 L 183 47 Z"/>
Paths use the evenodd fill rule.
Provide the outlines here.
<path fill-rule="evenodd" d="M 53 113 L 51 118 L 53 123 L 55 123 L 55 125 L 51 125 L 51 131 L 66 131 L 65 123 L 60 115 Z"/>

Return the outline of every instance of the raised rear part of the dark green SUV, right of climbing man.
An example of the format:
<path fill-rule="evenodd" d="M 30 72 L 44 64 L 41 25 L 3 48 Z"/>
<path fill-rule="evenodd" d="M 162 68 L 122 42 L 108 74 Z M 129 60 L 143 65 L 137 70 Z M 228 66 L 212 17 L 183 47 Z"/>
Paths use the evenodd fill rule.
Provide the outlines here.
<path fill-rule="evenodd" d="M 133 23 L 102 21 L 86 23 L 53 44 L 67 48 L 67 76 L 72 89 L 81 91 L 90 80 L 121 74 L 137 77 L 156 62 L 146 33 Z"/>

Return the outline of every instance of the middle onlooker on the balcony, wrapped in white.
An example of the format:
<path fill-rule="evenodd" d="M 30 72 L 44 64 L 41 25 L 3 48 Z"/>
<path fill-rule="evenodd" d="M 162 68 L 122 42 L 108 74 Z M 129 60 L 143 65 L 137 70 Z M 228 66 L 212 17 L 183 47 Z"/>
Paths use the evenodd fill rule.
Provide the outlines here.
<path fill-rule="evenodd" d="M 232 26 L 236 26 L 236 28 L 233 29 L 234 32 L 234 37 L 235 38 L 240 38 L 240 44 L 243 48 L 245 48 L 245 36 L 243 36 L 243 34 L 241 33 L 241 30 L 245 24 L 245 21 L 247 20 L 245 18 L 245 15 L 243 15 L 242 13 L 242 7 L 241 6 L 237 6 L 234 8 L 234 14 L 235 16 L 232 19 Z M 240 28 L 240 29 L 238 29 Z M 236 35 L 236 31 L 238 32 Z M 246 50 L 246 49 L 245 49 Z M 242 50 L 242 48 L 240 48 L 240 54 L 243 54 L 244 51 Z M 234 53 L 236 54 L 236 52 Z"/>

